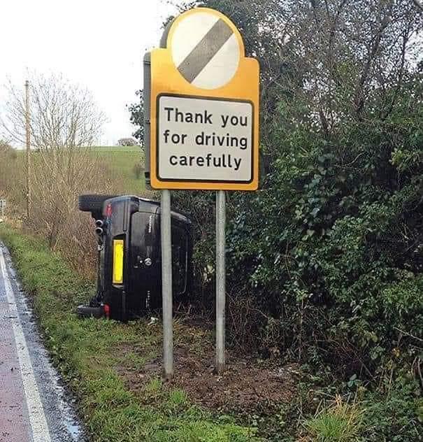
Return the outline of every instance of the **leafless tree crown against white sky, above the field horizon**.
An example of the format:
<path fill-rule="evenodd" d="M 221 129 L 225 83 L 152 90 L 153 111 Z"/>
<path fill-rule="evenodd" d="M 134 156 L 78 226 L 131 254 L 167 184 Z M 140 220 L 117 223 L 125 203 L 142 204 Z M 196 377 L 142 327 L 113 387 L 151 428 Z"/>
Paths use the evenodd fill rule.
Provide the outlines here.
<path fill-rule="evenodd" d="M 36 76 L 31 87 L 31 143 L 40 150 L 92 145 L 106 122 L 92 94 L 60 75 Z M 22 87 L 9 81 L 1 131 L 10 141 L 24 144 L 25 106 Z"/>

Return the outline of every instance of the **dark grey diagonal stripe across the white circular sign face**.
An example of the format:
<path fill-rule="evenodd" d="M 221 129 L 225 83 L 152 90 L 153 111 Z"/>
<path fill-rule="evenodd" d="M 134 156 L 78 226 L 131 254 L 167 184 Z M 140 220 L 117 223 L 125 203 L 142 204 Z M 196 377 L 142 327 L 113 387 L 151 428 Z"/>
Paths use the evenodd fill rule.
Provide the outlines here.
<path fill-rule="evenodd" d="M 192 83 L 232 34 L 234 34 L 232 29 L 222 19 L 218 20 L 178 66 L 178 70 L 185 80 Z"/>

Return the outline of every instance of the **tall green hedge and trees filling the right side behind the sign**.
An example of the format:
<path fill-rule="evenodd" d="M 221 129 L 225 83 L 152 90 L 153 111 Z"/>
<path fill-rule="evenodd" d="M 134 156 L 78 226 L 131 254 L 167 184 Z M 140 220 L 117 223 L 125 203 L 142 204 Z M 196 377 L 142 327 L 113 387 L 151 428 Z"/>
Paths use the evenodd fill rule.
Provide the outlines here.
<path fill-rule="evenodd" d="M 186 3 L 229 15 L 261 62 L 260 190 L 228 192 L 229 342 L 352 385 L 373 380 L 369 390 L 387 373 L 421 378 L 423 62 L 410 36 L 423 16 L 415 2 Z M 413 50 L 420 55 L 408 63 Z M 195 293 L 213 311 L 213 194 L 175 192 L 173 201 L 194 221 Z M 367 425 L 381 440 L 413 440 L 382 428 L 394 414 L 378 394 Z M 414 399 L 398 397 L 387 401 L 405 423 Z"/>

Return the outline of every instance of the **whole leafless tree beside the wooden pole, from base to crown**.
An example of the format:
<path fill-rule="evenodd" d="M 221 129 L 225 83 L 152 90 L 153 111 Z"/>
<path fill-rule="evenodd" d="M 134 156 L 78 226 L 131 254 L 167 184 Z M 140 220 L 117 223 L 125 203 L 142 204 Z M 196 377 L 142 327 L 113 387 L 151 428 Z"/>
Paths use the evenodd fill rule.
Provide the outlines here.
<path fill-rule="evenodd" d="M 106 191 L 107 177 L 90 146 L 99 138 L 105 117 L 92 94 L 62 76 L 30 80 L 31 217 L 26 225 L 56 248 L 70 234 L 78 194 Z M 25 141 L 25 101 L 22 87 L 9 83 L 0 127 L 15 143 Z"/>

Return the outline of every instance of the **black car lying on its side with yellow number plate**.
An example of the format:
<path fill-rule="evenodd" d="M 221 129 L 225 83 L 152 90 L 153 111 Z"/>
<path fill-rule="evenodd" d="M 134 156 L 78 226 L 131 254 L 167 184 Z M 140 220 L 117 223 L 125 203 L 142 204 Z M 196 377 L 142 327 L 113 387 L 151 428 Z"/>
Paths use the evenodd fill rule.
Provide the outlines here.
<path fill-rule="evenodd" d="M 98 237 L 96 295 L 79 306 L 81 317 L 127 321 L 162 306 L 160 204 L 134 196 L 81 195 L 80 211 L 90 212 Z M 191 221 L 171 214 L 173 294 L 187 297 L 192 279 Z"/>

